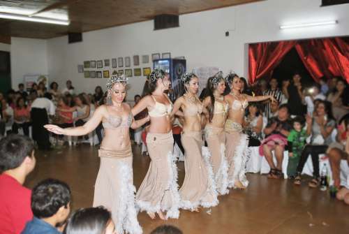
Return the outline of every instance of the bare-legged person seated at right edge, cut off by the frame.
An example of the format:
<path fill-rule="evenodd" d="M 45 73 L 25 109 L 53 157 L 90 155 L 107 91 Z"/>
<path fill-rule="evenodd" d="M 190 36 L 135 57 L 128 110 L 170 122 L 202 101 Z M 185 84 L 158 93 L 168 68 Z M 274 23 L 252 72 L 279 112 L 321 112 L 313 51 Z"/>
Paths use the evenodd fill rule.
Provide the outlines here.
<path fill-rule="evenodd" d="M 349 163 L 349 116 L 343 119 L 343 122 L 337 128 L 336 142 L 332 142 L 327 150 L 329 164 L 332 170 L 332 179 L 334 187 L 341 187 L 341 161 L 346 160 Z M 349 164 L 348 164 L 349 165 Z M 347 165 L 347 166 L 348 166 Z M 349 169 L 349 168 L 348 168 Z M 348 171 L 348 170 L 343 170 Z M 349 171 L 348 171 L 349 173 Z M 349 175 L 348 175 L 349 176 Z"/>

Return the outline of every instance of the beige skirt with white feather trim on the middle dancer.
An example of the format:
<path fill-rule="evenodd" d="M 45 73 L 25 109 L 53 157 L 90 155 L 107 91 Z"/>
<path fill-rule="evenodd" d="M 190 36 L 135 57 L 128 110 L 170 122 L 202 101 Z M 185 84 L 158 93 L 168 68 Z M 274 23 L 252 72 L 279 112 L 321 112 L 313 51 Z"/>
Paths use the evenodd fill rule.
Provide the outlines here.
<path fill-rule="evenodd" d="M 179 195 L 184 210 L 218 205 L 216 183 L 210 163 L 210 154 L 203 148 L 201 131 L 185 131 L 181 135 L 184 147 L 185 177 Z"/>

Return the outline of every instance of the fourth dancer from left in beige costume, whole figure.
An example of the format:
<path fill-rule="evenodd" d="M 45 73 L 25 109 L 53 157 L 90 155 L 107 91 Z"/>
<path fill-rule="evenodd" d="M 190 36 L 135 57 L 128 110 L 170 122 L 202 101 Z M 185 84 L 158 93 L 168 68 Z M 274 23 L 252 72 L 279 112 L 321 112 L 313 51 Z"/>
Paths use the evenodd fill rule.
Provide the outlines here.
<path fill-rule="evenodd" d="M 205 138 L 211 153 L 211 165 L 214 172 L 216 189 L 220 195 L 228 193 L 228 163 L 225 159 L 224 123 L 227 118 L 228 103 L 223 92 L 225 80 L 221 72 L 207 81 L 207 97 L 205 108 L 209 110 L 208 122 L 205 126 Z"/>

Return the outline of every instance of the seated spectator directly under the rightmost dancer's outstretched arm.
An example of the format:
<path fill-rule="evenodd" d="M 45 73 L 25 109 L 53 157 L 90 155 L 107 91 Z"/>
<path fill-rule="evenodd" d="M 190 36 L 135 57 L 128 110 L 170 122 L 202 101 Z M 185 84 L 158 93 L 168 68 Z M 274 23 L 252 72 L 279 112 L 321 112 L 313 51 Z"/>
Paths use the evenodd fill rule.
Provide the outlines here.
<path fill-rule="evenodd" d="M 262 140 L 263 117 L 258 103 L 248 103 L 244 129 L 248 135 L 248 146 L 259 146 Z"/>

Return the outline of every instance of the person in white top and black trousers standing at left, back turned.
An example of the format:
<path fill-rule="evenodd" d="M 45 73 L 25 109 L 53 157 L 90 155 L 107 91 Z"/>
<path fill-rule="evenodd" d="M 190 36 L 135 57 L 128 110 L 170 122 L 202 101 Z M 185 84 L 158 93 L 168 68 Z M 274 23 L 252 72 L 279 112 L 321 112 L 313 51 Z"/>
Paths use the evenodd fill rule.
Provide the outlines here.
<path fill-rule="evenodd" d="M 32 92 L 34 98 L 31 103 L 31 122 L 33 126 L 33 139 L 38 143 L 39 149 L 50 149 L 50 136 L 48 131 L 43 127 L 49 123 L 49 115 L 53 116 L 55 106 L 50 100 L 51 94 L 45 93 L 45 97 L 36 98 L 36 93 Z"/>

